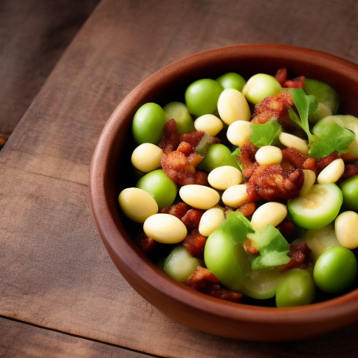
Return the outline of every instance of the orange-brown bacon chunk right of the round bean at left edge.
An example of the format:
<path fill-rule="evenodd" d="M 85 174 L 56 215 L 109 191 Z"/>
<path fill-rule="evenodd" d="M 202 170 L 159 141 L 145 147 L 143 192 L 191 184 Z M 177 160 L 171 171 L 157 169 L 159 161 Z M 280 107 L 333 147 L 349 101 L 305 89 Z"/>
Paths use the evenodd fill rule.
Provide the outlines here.
<path fill-rule="evenodd" d="M 198 160 L 192 157 L 185 157 L 184 153 L 175 150 L 174 152 L 164 153 L 162 156 L 162 168 L 168 178 L 178 185 L 200 184 L 206 185 L 208 175 L 201 171 L 196 171 L 192 162 Z"/>

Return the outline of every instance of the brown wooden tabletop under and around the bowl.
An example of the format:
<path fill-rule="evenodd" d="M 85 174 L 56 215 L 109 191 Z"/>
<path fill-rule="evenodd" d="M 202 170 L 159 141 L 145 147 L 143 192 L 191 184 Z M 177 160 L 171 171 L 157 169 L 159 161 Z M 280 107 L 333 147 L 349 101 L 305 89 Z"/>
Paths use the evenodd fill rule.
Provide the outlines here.
<path fill-rule="evenodd" d="M 260 343 L 164 316 L 110 261 L 88 194 L 104 124 L 155 71 L 244 43 L 358 63 L 357 25 L 355 0 L 102 0 L 0 152 L 0 357 L 357 357 L 358 324 Z"/>

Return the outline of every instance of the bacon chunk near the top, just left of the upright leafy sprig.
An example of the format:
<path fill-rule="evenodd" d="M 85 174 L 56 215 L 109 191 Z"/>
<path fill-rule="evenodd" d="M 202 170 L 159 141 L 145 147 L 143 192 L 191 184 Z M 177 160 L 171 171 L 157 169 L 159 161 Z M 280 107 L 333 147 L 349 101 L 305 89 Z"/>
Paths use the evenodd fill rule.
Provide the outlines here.
<path fill-rule="evenodd" d="M 288 117 L 287 106 L 293 106 L 292 96 L 289 92 L 282 92 L 277 96 L 268 96 L 255 106 L 251 122 L 253 124 L 266 123 L 269 120 L 285 121 Z"/>

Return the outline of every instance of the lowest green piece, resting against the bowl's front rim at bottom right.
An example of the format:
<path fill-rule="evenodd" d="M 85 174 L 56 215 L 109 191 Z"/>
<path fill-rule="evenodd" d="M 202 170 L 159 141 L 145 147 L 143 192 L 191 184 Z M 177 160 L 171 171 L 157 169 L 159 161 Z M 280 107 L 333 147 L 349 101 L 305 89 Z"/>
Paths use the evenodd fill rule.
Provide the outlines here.
<path fill-rule="evenodd" d="M 306 270 L 292 268 L 287 271 L 276 288 L 276 306 L 303 306 L 315 299 L 315 283 Z"/>

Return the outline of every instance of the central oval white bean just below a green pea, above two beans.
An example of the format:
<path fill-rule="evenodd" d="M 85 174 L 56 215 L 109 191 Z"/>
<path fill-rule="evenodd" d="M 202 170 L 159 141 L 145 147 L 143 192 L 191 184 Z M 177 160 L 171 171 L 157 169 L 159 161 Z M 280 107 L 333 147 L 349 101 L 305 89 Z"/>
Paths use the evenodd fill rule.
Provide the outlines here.
<path fill-rule="evenodd" d="M 208 175 L 209 184 L 219 190 L 225 190 L 228 187 L 240 184 L 242 181 L 243 174 L 234 166 L 218 166 Z"/>

